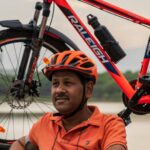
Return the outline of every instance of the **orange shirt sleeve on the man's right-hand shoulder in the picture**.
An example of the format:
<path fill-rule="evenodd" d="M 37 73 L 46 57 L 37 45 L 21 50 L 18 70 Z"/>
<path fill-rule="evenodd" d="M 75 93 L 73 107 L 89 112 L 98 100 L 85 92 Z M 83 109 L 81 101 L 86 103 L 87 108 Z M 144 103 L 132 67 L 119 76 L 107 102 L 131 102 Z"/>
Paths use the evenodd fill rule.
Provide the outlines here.
<path fill-rule="evenodd" d="M 102 150 L 112 145 L 122 145 L 127 150 L 126 130 L 123 120 L 118 116 L 109 115 L 104 119 L 104 136 Z"/>

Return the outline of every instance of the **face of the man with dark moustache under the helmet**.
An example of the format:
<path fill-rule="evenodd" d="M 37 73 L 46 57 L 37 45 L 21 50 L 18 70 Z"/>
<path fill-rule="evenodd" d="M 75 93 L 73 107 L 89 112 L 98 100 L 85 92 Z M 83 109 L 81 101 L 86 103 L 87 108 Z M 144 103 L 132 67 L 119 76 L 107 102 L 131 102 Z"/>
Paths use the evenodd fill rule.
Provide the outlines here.
<path fill-rule="evenodd" d="M 83 96 L 83 85 L 72 71 L 56 71 L 52 76 L 52 101 L 61 114 L 68 114 L 79 106 Z"/>

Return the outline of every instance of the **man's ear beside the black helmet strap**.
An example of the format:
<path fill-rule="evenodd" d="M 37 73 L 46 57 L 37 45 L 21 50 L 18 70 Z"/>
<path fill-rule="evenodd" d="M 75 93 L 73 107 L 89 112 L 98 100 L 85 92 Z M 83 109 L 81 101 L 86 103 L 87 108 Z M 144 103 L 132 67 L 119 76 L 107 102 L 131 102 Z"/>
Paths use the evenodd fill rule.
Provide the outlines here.
<path fill-rule="evenodd" d="M 93 81 L 89 81 L 89 82 L 86 83 L 85 95 L 86 95 L 87 99 L 92 97 L 92 95 L 93 95 L 93 87 L 94 87 Z"/>

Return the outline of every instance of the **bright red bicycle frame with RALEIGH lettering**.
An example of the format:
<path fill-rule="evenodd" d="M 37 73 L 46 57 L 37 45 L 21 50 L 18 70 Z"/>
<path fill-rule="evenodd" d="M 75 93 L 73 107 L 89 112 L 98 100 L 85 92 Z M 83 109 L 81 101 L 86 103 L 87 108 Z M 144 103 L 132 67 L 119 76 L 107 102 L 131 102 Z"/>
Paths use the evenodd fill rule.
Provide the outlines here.
<path fill-rule="evenodd" d="M 111 12 L 115 15 L 118 15 L 120 17 L 128 19 L 134 23 L 150 27 L 149 19 L 139 16 L 137 14 L 134 14 L 128 10 L 117 7 L 115 5 L 112 5 L 108 2 L 105 2 L 102 0 L 80 0 L 80 1 L 88 3 L 96 8 L 101 9 L 101 10 Z M 95 56 L 98 58 L 98 60 L 102 63 L 102 65 L 105 67 L 105 69 L 108 71 L 108 73 L 112 76 L 112 78 L 115 80 L 115 82 L 121 88 L 123 93 L 128 97 L 128 99 L 131 99 L 132 96 L 135 94 L 136 90 L 133 89 L 133 87 L 130 85 L 130 83 L 126 80 L 126 78 L 119 71 L 117 66 L 114 64 L 114 62 L 111 61 L 110 57 L 104 51 L 103 47 L 97 42 L 97 39 L 90 33 L 90 31 L 87 29 L 87 27 L 81 21 L 81 19 L 75 13 L 75 11 L 72 9 L 72 7 L 68 4 L 68 2 L 66 0 L 48 0 L 48 3 L 51 4 L 52 2 L 54 2 L 60 8 L 60 10 L 63 12 L 63 14 L 69 20 L 69 22 L 73 25 L 73 27 L 76 29 L 76 31 L 79 33 L 79 35 L 82 37 L 82 39 L 86 42 L 88 47 L 92 50 L 92 52 L 95 54 Z M 149 65 L 149 61 L 150 61 L 150 55 L 149 55 L 148 51 L 150 51 L 150 48 L 145 53 L 145 56 L 142 61 L 142 67 L 141 67 L 140 73 L 138 75 L 138 78 L 143 75 L 146 75 L 146 73 L 147 73 L 148 65 Z M 138 80 L 137 80 L 136 86 L 137 86 L 136 87 L 137 89 L 141 86 L 140 83 L 138 82 Z M 142 96 L 142 98 L 138 102 L 138 104 L 144 104 L 144 103 L 146 103 L 146 104 L 150 103 L 150 95 Z"/>

